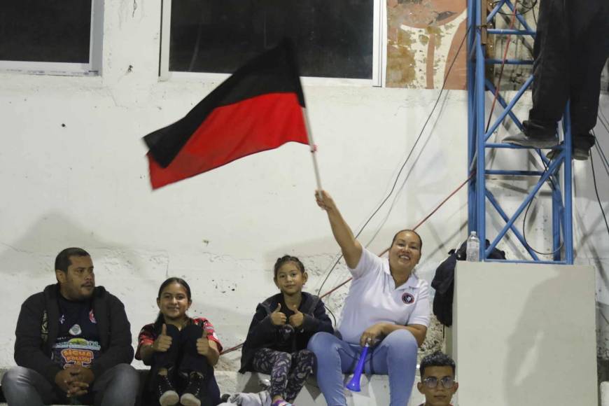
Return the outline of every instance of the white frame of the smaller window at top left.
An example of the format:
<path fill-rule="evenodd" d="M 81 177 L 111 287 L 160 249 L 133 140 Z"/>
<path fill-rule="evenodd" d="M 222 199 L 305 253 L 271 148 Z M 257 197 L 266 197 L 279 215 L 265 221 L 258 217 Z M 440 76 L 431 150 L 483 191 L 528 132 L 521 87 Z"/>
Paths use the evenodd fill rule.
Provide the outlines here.
<path fill-rule="evenodd" d="M 56 76 L 97 76 L 101 74 L 104 0 L 90 1 L 91 29 L 89 33 L 89 63 L 10 61 L 0 59 L 0 73 Z"/>

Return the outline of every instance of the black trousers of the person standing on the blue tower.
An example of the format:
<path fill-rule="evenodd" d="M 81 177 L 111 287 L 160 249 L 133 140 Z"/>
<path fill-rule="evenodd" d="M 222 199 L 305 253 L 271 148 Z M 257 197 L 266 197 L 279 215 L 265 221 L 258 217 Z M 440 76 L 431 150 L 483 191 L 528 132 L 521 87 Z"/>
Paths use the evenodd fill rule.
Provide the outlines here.
<path fill-rule="evenodd" d="M 608 0 L 540 0 L 533 48 L 533 109 L 525 132 L 556 132 L 570 100 L 573 146 L 589 149 L 596 125 L 601 71 L 609 57 Z"/>

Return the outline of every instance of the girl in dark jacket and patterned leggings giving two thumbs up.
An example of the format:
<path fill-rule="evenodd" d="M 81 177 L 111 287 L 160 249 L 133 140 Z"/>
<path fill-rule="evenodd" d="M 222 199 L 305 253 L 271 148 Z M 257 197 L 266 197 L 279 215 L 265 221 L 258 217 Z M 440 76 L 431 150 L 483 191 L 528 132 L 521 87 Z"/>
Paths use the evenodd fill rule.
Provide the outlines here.
<path fill-rule="evenodd" d="M 241 351 L 239 372 L 270 374 L 272 406 L 290 405 L 313 371 L 309 338 L 320 331 L 334 332 L 323 302 L 302 292 L 307 279 L 298 258 L 277 259 L 273 280 L 281 293 L 258 304 Z"/>

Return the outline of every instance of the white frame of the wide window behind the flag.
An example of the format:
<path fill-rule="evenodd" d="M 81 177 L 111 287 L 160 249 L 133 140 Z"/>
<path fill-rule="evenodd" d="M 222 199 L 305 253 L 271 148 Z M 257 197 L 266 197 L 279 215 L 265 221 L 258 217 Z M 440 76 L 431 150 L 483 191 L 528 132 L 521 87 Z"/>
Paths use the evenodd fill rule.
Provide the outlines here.
<path fill-rule="evenodd" d="M 373 0 L 372 15 L 372 78 L 325 78 L 318 76 L 302 76 L 303 85 L 350 85 L 375 86 L 385 85 L 386 57 L 386 1 Z M 172 21 L 172 0 L 161 0 L 161 41 L 159 79 L 168 80 L 202 80 L 218 82 L 230 76 L 229 73 L 179 72 L 169 71 L 169 33 Z"/>

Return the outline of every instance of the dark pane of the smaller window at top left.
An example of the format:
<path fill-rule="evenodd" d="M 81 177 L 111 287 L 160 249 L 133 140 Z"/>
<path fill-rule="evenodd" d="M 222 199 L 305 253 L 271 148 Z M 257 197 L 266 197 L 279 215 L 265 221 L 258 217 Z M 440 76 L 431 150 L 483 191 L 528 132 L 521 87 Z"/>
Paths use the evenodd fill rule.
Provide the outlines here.
<path fill-rule="evenodd" d="M 2 0 L 0 60 L 89 63 L 91 0 Z"/>

